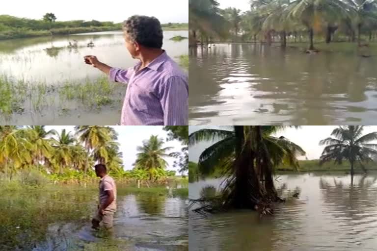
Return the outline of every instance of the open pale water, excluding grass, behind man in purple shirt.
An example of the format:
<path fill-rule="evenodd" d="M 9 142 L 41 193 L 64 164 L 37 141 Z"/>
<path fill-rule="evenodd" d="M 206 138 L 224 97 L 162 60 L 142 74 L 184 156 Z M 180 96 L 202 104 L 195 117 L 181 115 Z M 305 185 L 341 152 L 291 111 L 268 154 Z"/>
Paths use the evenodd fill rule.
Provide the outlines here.
<path fill-rule="evenodd" d="M 175 42 L 174 36 L 188 37 L 188 31 L 164 31 L 163 49 L 174 60 L 188 54 L 188 40 Z M 77 41 L 77 48 L 68 48 Z M 87 44 L 92 41 L 94 47 Z M 122 31 L 74 34 L 70 36 L 37 37 L 0 41 L 0 76 L 22 80 L 34 94 L 26 95 L 21 104 L 25 110 L 10 117 L 1 116 L 0 124 L 12 125 L 115 125 L 120 121 L 120 110 L 126 85 L 111 83 L 114 90 L 106 98 L 110 104 L 88 107 L 81 100 L 62 98 L 61 87 L 66 83 L 83 84 L 104 76 L 98 69 L 86 65 L 85 55 L 96 55 L 112 67 L 127 69 L 137 60 L 125 47 Z M 46 85 L 39 88 L 38 85 Z M 40 90 L 43 89 L 43 90 Z M 45 90 L 47 89 L 47 90 Z M 42 92 L 42 94 L 41 94 Z M 75 91 L 73 91 L 75 92 Z M 102 95 L 101 93 L 99 93 Z M 28 97 L 31 96 L 31 97 Z M 37 97 L 34 97 L 37 96 Z M 92 100 L 96 97 L 92 97 Z M 36 104 L 37 103 L 37 104 Z M 37 108 L 35 108 L 38 106 Z"/>

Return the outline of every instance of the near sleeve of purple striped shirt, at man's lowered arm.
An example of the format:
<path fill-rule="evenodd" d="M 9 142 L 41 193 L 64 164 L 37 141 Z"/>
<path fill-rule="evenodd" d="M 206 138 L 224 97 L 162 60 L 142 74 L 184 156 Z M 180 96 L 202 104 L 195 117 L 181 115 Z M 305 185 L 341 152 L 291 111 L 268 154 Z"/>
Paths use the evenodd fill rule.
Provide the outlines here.
<path fill-rule="evenodd" d="M 164 126 L 188 125 L 188 83 L 182 76 L 171 76 L 162 83 L 160 102 Z"/>

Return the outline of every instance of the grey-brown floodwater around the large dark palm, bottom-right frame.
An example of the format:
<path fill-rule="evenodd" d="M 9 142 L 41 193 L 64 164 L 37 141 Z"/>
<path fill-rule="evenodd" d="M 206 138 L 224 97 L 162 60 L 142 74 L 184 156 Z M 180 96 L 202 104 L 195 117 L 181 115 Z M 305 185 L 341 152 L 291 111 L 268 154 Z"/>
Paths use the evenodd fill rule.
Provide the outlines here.
<path fill-rule="evenodd" d="M 191 251 L 373 251 L 377 245 L 377 174 L 279 176 L 287 201 L 260 218 L 243 210 L 204 217 L 189 211 Z M 189 198 L 216 179 L 189 184 Z M 292 195 L 299 192 L 299 197 Z"/>

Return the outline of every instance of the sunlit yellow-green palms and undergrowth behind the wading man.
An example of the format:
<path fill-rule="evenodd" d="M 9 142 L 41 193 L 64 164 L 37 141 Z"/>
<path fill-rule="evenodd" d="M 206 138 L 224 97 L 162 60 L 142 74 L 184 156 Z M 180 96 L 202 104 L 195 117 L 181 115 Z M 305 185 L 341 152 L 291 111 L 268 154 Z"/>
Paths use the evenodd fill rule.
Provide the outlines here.
<path fill-rule="evenodd" d="M 181 139 L 179 128 L 164 129 L 169 132 L 167 140 Z M 177 158 L 175 166 L 181 172 L 187 169 L 181 156 L 185 152 L 172 152 L 164 144 L 151 135 L 137 146 L 134 169 L 125 171 L 118 134 L 112 127 L 75 126 L 74 132 L 58 132 L 45 126 L 0 126 L 0 174 L 11 180 L 20 171 L 37 170 L 52 180 L 85 180 L 95 177 L 95 163 L 103 163 L 116 178 L 156 182 L 175 176 L 175 171 L 166 170 L 167 157 Z"/>

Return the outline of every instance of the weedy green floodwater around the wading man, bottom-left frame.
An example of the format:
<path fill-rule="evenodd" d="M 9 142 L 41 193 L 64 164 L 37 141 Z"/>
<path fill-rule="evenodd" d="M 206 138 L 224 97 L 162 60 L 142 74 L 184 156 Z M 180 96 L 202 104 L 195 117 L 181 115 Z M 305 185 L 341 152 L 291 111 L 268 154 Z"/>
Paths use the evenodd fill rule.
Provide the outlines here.
<path fill-rule="evenodd" d="M 0 216 L 1 251 L 188 250 L 185 198 L 132 194 L 118 186 L 111 231 L 91 228 L 96 189 L 64 186 L 55 191 L 2 194 L 0 201 L 2 208 L 8 205 Z"/>

